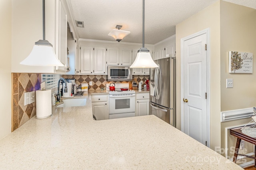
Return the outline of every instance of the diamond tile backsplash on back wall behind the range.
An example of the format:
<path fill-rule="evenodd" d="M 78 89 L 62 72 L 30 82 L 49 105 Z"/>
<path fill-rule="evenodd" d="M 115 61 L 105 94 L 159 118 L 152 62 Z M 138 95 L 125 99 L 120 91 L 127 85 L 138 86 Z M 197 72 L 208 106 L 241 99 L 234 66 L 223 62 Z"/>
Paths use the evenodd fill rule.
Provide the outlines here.
<path fill-rule="evenodd" d="M 62 75 L 63 78 L 66 79 L 76 79 L 76 84 L 80 85 L 81 83 L 88 83 L 92 81 L 92 86 L 89 86 L 88 90 L 100 90 L 102 87 L 105 87 L 106 84 L 112 83 L 113 81 L 107 81 L 106 80 L 106 75 Z M 142 75 L 142 76 L 137 76 L 134 75 L 132 76 L 132 79 L 138 82 L 141 80 L 145 82 L 146 80 L 149 79 L 149 75 Z M 130 88 L 132 81 L 115 81 L 114 83 L 129 83 Z"/>

